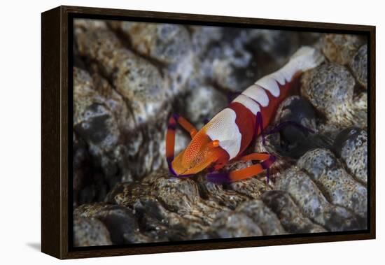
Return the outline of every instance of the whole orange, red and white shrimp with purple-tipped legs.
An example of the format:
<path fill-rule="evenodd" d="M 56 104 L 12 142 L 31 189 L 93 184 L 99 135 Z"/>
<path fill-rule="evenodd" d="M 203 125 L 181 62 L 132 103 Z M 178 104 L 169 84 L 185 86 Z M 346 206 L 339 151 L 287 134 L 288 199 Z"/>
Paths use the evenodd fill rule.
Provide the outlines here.
<path fill-rule="evenodd" d="M 169 171 L 176 177 L 193 176 L 210 169 L 207 180 L 216 183 L 235 182 L 251 178 L 269 167 L 276 157 L 265 152 L 244 154 L 246 148 L 271 122 L 295 80 L 309 69 L 323 62 L 316 49 L 304 46 L 290 57 L 281 69 L 260 78 L 216 114 L 202 129 L 197 130 L 181 115 L 169 118 L 166 134 L 166 157 Z M 175 129 L 179 124 L 188 131 L 191 141 L 187 148 L 174 157 Z M 263 138 L 263 137 L 262 137 Z M 235 161 L 258 163 L 228 173 L 219 173 L 223 166 Z"/>

